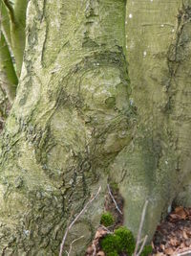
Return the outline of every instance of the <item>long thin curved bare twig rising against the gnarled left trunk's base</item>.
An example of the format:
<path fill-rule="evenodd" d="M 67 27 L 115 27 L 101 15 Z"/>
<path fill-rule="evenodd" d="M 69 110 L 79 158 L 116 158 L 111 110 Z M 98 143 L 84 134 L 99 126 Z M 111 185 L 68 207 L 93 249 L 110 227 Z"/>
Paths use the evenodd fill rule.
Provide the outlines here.
<path fill-rule="evenodd" d="M 96 192 L 96 195 L 94 197 L 92 197 L 84 206 L 84 208 L 79 212 L 79 214 L 74 218 L 74 221 L 72 221 L 72 223 L 69 225 L 69 227 L 66 229 L 66 232 L 64 234 L 64 237 L 62 239 L 62 243 L 60 244 L 60 251 L 59 251 L 59 256 L 62 256 L 63 253 L 63 249 L 64 249 L 64 244 L 67 238 L 67 235 L 69 233 L 69 231 L 71 230 L 71 228 L 74 225 L 74 222 L 77 221 L 79 219 L 79 217 L 86 211 L 86 209 L 88 208 L 89 204 L 91 204 L 96 197 L 98 196 L 98 194 L 100 193 L 101 190 L 101 186 L 98 188 L 98 191 Z"/>

